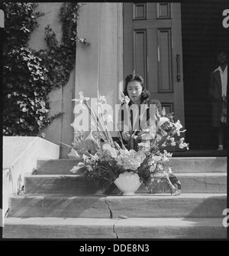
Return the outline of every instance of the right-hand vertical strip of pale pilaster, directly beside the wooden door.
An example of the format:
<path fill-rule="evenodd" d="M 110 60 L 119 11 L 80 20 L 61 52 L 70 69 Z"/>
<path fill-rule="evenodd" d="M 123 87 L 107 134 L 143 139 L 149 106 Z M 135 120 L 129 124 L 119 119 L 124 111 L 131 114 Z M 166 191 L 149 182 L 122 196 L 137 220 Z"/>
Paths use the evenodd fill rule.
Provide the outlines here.
<path fill-rule="evenodd" d="M 123 80 L 122 3 L 100 3 L 98 92 L 112 106 Z"/>

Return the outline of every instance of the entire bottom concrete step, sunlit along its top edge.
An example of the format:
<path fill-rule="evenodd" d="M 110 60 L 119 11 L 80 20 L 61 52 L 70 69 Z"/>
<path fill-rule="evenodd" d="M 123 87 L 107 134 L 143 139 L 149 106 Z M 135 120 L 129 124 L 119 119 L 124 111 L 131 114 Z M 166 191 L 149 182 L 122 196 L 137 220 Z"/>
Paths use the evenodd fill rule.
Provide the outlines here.
<path fill-rule="evenodd" d="M 4 224 L 3 238 L 227 238 L 222 218 L 5 218 Z"/>

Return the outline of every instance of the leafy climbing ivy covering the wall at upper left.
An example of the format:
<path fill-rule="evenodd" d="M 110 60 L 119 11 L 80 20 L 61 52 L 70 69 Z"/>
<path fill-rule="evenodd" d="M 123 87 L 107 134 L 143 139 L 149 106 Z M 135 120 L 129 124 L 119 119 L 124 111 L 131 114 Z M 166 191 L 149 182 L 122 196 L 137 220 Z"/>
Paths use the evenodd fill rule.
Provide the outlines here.
<path fill-rule="evenodd" d="M 38 27 L 37 3 L 7 2 L 5 12 L 5 44 L 3 48 L 3 135 L 37 136 L 40 130 L 60 117 L 48 117 L 48 94 L 64 86 L 76 60 L 76 42 L 89 45 L 77 37 L 79 8 L 84 4 L 63 3 L 60 9 L 62 42 L 50 25 L 45 28 L 47 49 L 35 51 L 28 45 L 31 32 Z"/>

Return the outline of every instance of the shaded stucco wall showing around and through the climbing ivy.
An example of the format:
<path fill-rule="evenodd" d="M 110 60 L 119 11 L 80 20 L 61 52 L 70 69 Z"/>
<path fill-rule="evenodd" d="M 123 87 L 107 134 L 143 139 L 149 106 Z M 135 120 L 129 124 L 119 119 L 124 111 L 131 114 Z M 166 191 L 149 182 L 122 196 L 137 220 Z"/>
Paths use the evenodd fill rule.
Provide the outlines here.
<path fill-rule="evenodd" d="M 31 33 L 29 45 L 32 49 L 39 51 L 40 49 L 47 48 L 44 28 L 47 25 L 56 33 L 56 39 L 61 43 L 62 27 L 60 23 L 60 8 L 63 2 L 40 2 L 37 11 L 44 12 L 44 16 L 37 19 L 39 27 Z M 48 95 L 50 102 L 49 117 L 53 117 L 56 113 L 63 112 L 62 117 L 57 117 L 53 120 L 50 126 L 47 126 L 40 133 L 45 133 L 45 139 L 52 143 L 60 145 L 60 141 L 71 145 L 73 142 L 73 103 L 75 87 L 75 69 L 72 71 L 69 82 L 62 88 L 50 92 Z M 60 146 L 60 157 L 65 158 L 69 153 L 69 148 Z"/>

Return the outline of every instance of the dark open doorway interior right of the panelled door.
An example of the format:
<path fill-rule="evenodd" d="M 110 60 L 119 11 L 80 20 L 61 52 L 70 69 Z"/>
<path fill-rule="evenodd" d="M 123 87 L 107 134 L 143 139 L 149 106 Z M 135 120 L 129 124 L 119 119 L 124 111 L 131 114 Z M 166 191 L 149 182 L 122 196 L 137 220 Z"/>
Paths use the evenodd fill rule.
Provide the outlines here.
<path fill-rule="evenodd" d="M 185 99 L 185 140 L 190 149 L 217 149 L 211 128 L 208 86 L 217 51 L 229 48 L 229 28 L 222 13 L 228 0 L 182 3 L 182 52 Z"/>

